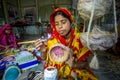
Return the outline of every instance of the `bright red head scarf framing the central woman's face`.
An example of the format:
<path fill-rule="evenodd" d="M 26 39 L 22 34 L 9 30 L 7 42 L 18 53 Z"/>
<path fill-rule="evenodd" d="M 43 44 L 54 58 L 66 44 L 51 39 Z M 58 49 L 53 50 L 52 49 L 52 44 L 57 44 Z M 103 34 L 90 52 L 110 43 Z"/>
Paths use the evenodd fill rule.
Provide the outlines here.
<path fill-rule="evenodd" d="M 55 17 L 55 14 L 57 12 L 63 12 L 64 14 L 66 14 L 68 17 L 69 17 L 69 20 L 70 20 L 70 23 L 72 24 L 72 15 L 71 13 L 66 9 L 66 8 L 57 8 L 55 9 L 51 15 L 50 15 L 50 23 L 51 23 L 51 26 L 53 27 L 53 37 L 57 38 L 62 44 L 64 45 L 67 45 L 66 44 L 66 40 L 64 37 L 60 36 L 56 30 L 56 27 L 55 27 L 55 22 L 54 22 L 54 17 Z M 74 33 L 74 30 L 71 29 L 71 35 L 70 35 L 70 41 L 72 42 L 72 39 L 73 39 L 73 33 Z"/>

